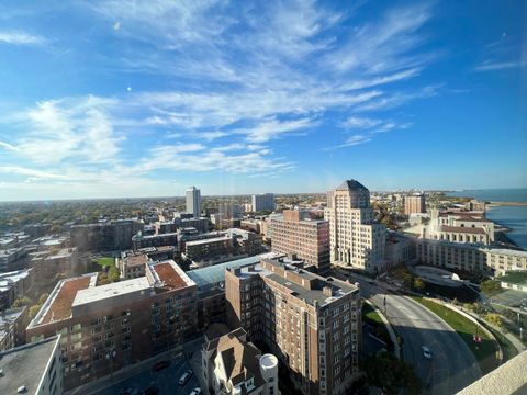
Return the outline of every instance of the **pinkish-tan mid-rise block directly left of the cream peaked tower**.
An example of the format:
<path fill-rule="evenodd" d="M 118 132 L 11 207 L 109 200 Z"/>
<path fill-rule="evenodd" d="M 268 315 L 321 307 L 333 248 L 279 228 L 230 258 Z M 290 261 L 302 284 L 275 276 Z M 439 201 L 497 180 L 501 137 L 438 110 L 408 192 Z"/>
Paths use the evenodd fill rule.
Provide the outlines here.
<path fill-rule="evenodd" d="M 318 273 L 329 270 L 329 223 L 312 221 L 307 212 L 284 210 L 283 215 L 269 218 L 272 227 L 272 250 L 295 253 Z"/>

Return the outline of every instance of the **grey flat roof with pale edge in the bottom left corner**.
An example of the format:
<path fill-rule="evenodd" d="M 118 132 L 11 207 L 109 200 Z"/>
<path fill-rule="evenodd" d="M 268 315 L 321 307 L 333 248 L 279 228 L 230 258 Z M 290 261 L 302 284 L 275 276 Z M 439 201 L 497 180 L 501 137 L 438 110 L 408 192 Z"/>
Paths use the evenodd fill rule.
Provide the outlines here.
<path fill-rule="evenodd" d="M 16 394 L 22 385 L 26 386 L 27 394 L 36 394 L 56 347 L 58 336 L 0 352 L 2 394 Z"/>

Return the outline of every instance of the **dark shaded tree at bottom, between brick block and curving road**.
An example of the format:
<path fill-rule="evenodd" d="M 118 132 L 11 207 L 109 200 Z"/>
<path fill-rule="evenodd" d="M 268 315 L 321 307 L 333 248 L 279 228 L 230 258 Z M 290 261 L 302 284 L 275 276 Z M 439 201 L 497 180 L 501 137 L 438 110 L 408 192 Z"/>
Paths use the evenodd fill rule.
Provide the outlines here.
<path fill-rule="evenodd" d="M 399 394 L 402 388 L 406 388 L 407 394 L 421 394 L 423 388 L 413 368 L 388 352 L 369 357 L 365 361 L 365 372 L 368 382 L 388 395 Z"/>

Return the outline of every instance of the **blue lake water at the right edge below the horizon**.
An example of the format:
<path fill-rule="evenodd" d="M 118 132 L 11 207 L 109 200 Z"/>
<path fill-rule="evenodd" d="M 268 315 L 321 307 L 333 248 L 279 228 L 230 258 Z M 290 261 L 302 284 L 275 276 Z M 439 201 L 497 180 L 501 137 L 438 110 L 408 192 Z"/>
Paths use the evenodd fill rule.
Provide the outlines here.
<path fill-rule="evenodd" d="M 474 198 L 492 202 L 527 202 L 527 188 L 467 190 L 448 193 L 450 196 Z M 527 250 L 527 206 L 489 207 L 486 217 L 511 229 L 507 236 L 519 247 Z"/>

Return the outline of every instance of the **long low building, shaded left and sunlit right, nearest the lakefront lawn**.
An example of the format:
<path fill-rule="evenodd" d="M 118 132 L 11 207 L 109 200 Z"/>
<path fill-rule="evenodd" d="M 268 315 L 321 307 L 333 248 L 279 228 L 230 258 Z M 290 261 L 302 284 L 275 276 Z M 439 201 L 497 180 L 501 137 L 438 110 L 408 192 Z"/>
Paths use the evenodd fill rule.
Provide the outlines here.
<path fill-rule="evenodd" d="M 415 244 L 417 260 L 426 264 L 490 274 L 527 270 L 527 251 L 421 238 Z"/>

